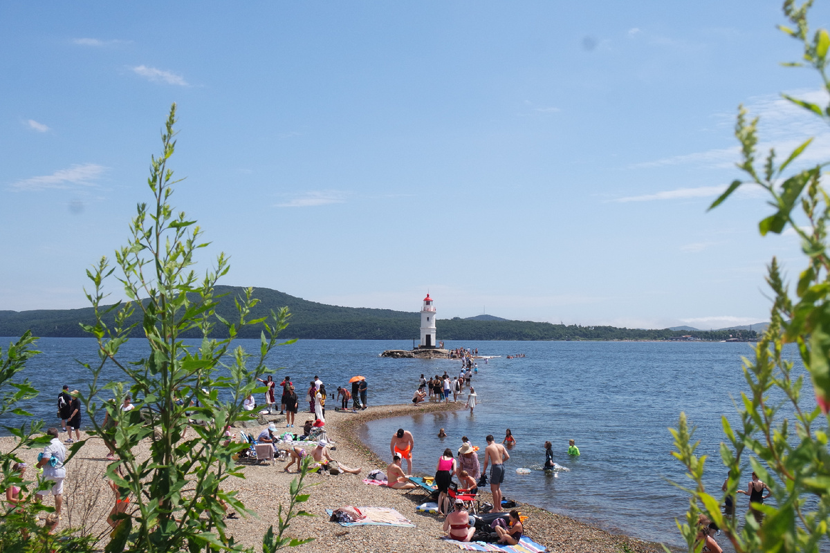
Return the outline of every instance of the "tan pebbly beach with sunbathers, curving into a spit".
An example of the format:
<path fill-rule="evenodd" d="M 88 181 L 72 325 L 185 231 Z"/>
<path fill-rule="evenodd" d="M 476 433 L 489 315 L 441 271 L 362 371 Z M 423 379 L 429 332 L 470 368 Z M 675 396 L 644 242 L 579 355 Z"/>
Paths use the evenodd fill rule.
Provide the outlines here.
<path fill-rule="evenodd" d="M 400 551 L 403 553 L 422 553 L 424 551 L 458 551 L 441 537 L 442 519 L 435 515 L 423 514 L 415 511 L 415 507 L 427 501 L 422 495 L 413 492 L 405 494 L 403 491 L 392 490 L 386 487 L 370 486 L 363 483 L 365 474 L 374 468 L 385 468 L 387 461 L 378 458 L 365 444 L 358 439 L 359 426 L 369 420 L 386 417 L 429 413 L 439 410 L 452 410 L 453 404 L 419 405 L 381 405 L 369 407 L 359 413 L 343 413 L 326 410 L 327 434 L 336 444 L 331 456 L 352 468 L 363 468 L 359 475 L 340 474 L 332 476 L 312 474 L 308 482 L 315 484 L 310 488 L 310 500 L 305 503 L 305 509 L 315 514 L 315 517 L 300 517 L 291 525 L 291 535 L 298 538 L 314 537 L 315 541 L 301 546 L 300 551 L 308 553 L 330 553 L 331 551 L 366 551 L 388 552 Z M 269 415 L 268 420 L 274 420 L 278 428 L 285 428 L 285 418 L 281 415 Z M 297 420 L 305 420 L 304 414 L 297 415 Z M 258 434 L 258 430 L 256 430 Z M 61 434 L 61 438 L 66 434 Z M 0 438 L 0 449 L 7 451 L 12 448 L 14 439 Z M 310 448 L 310 446 L 307 446 Z M 137 457 L 147 455 L 149 442 L 139 445 L 135 451 Z M 34 463 L 38 450 L 22 453 L 25 461 Z M 109 529 L 105 519 L 112 507 L 112 492 L 106 486 L 103 478 L 107 450 L 99 439 L 90 439 L 84 449 L 67 466 L 67 478 L 64 495 L 64 516 L 61 527 L 87 526 L 89 531 L 97 534 Z M 416 452 L 417 454 L 417 452 Z M 228 530 L 238 542 L 251 546 L 255 551 L 261 551 L 262 535 L 268 526 L 276 521 L 278 506 L 288 502 L 288 488 L 295 474 L 283 471 L 286 462 L 277 461 L 266 465 L 245 465 L 243 472 L 245 479 L 231 478 L 226 481 L 225 488 L 235 489 L 247 507 L 256 512 L 255 517 L 228 520 Z M 489 487 L 488 487 L 489 488 Z M 489 492 L 482 494 L 484 501 L 491 501 Z M 47 502 L 51 498 L 47 497 Z M 393 507 L 404 517 L 417 526 L 403 528 L 393 526 L 358 526 L 346 528 L 329 521 L 325 513 L 327 508 L 342 507 L 344 505 Z M 620 553 L 632 551 L 645 553 L 647 551 L 662 551 L 660 546 L 645 541 L 635 540 L 627 536 L 616 536 L 607 531 L 599 530 L 572 518 L 564 517 L 520 504 L 522 514 L 529 518 L 525 523 L 525 533 L 540 544 L 547 546 L 549 551 L 574 551 L 595 553 Z"/>

